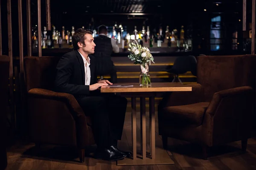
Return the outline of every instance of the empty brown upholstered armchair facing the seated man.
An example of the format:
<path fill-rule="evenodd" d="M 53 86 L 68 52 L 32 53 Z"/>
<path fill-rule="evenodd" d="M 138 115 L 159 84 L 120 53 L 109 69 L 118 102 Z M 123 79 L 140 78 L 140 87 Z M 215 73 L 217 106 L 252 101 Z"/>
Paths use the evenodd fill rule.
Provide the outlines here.
<path fill-rule="evenodd" d="M 199 56 L 192 92 L 166 94 L 158 106 L 163 147 L 172 137 L 207 147 L 242 141 L 246 150 L 255 105 L 256 57 Z"/>

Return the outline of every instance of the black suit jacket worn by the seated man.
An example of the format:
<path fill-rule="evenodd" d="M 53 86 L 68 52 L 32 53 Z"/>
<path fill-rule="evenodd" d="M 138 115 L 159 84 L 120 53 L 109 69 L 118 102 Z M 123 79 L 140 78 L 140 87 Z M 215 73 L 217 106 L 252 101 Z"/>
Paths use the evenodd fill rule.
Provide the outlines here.
<path fill-rule="evenodd" d="M 90 57 L 90 85 L 97 82 L 95 58 Z M 56 67 L 55 91 L 73 94 L 75 97 L 88 96 L 89 85 L 85 85 L 84 61 L 77 50 L 64 54 Z"/>

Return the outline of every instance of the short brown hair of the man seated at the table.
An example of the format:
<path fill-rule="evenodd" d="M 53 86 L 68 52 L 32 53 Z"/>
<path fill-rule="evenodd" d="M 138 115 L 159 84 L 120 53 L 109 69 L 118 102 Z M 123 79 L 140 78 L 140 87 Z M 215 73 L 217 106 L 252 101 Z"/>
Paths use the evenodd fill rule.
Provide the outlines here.
<path fill-rule="evenodd" d="M 79 49 L 79 46 L 77 45 L 78 42 L 81 42 L 84 44 L 85 34 L 92 34 L 91 31 L 85 30 L 83 28 L 79 28 L 75 31 L 75 33 L 72 36 L 72 42 L 73 42 L 73 48 L 74 50 Z"/>

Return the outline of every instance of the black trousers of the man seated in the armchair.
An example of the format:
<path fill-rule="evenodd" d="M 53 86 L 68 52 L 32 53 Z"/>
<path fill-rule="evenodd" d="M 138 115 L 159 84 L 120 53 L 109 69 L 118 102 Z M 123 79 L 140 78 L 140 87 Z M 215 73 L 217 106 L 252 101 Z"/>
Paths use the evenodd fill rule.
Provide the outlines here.
<path fill-rule="evenodd" d="M 99 150 L 121 140 L 127 99 L 114 94 L 93 94 L 77 99 L 93 124 L 93 135 Z"/>

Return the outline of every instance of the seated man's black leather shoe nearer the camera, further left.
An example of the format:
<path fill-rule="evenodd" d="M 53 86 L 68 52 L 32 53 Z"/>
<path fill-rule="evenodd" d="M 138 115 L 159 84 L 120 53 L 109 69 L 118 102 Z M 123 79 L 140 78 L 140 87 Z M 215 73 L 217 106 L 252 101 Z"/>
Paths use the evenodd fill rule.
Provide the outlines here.
<path fill-rule="evenodd" d="M 124 159 L 125 157 L 126 157 L 125 154 L 115 152 L 111 148 L 105 149 L 99 152 L 97 156 L 98 159 L 102 159 L 106 161 L 118 161 L 118 160 Z"/>

